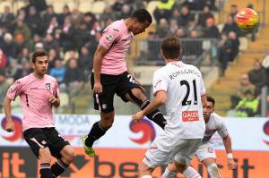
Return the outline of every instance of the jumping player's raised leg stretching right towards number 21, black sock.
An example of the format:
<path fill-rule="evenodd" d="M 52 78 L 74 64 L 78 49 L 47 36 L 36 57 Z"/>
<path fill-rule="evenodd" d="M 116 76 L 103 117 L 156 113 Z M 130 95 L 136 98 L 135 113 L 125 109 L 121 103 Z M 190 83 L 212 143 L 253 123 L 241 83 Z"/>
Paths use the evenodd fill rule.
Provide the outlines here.
<path fill-rule="evenodd" d="M 125 72 L 122 74 L 121 80 L 118 82 L 117 95 L 121 97 L 125 102 L 131 101 L 140 109 L 150 105 L 150 101 L 143 94 L 142 86 L 134 80 L 134 77 Z M 159 109 L 155 109 L 152 113 L 146 115 L 152 122 L 157 123 L 162 129 L 164 129 L 166 120 L 161 114 Z"/>

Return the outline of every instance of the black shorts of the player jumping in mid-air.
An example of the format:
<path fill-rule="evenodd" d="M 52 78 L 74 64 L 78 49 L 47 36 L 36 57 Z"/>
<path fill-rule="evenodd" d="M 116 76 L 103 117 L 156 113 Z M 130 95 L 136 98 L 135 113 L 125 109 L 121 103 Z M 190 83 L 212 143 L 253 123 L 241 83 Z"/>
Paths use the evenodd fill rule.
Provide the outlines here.
<path fill-rule="evenodd" d="M 121 97 L 123 101 L 128 102 L 126 93 L 130 89 L 139 88 L 141 86 L 134 77 L 128 72 L 119 75 L 100 74 L 100 82 L 103 87 L 101 94 L 97 96 L 93 93 L 94 109 L 100 110 L 101 113 L 109 113 L 114 111 L 113 101 L 115 93 Z M 91 73 L 91 89 L 94 85 L 94 74 Z"/>

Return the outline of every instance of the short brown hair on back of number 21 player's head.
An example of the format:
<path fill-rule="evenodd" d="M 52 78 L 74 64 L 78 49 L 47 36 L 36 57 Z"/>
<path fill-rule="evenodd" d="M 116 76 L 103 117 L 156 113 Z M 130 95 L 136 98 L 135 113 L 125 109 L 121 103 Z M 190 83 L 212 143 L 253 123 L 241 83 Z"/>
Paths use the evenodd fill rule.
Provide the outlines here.
<path fill-rule="evenodd" d="M 176 59 L 181 53 L 181 44 L 179 38 L 169 36 L 161 42 L 161 51 L 166 59 Z"/>

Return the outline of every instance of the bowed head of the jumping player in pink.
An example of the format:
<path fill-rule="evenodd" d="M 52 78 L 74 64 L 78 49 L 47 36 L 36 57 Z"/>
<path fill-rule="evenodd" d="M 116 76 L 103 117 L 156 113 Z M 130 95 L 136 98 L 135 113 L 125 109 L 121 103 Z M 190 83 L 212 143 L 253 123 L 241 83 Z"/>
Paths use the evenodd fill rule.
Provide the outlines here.
<path fill-rule="evenodd" d="M 138 9 L 131 15 L 132 25 L 130 30 L 137 35 L 143 33 L 152 23 L 152 15 L 145 9 Z"/>

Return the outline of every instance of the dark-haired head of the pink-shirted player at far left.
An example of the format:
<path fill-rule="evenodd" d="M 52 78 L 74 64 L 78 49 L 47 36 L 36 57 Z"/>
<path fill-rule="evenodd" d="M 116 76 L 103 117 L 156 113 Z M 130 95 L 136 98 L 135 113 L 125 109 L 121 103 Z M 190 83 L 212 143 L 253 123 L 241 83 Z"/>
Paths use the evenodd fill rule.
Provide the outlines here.
<path fill-rule="evenodd" d="M 39 77 L 48 71 L 48 55 L 45 51 L 36 51 L 31 57 L 34 73 Z"/>

